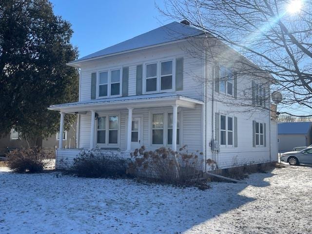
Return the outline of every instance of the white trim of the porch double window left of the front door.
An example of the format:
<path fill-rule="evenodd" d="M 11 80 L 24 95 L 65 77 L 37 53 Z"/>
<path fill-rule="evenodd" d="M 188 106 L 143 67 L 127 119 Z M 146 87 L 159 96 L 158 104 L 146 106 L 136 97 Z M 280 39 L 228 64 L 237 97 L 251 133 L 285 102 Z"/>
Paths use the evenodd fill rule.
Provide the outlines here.
<path fill-rule="evenodd" d="M 110 116 L 117 116 L 118 117 L 118 128 L 117 128 L 117 144 L 116 143 L 108 143 L 109 142 L 109 117 Z M 120 112 L 112 112 L 112 113 L 105 113 L 99 114 L 98 117 L 106 117 L 106 125 L 105 125 L 105 144 L 98 143 L 98 119 L 96 121 L 95 126 L 95 145 L 98 147 L 119 147 L 120 146 Z"/>

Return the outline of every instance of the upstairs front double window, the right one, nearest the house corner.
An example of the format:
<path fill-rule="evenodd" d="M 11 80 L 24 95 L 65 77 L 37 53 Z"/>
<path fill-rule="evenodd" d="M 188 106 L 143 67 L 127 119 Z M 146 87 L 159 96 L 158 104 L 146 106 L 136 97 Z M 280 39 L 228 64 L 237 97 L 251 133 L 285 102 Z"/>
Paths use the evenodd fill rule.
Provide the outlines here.
<path fill-rule="evenodd" d="M 145 65 L 145 92 L 159 92 L 174 88 L 173 60 Z"/>

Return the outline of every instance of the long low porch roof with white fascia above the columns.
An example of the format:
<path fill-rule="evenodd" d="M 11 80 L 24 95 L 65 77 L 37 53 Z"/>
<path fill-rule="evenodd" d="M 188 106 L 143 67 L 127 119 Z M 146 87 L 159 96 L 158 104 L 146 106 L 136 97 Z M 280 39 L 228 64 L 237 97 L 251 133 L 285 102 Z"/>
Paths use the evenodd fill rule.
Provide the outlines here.
<path fill-rule="evenodd" d="M 78 113 L 91 110 L 123 110 L 129 107 L 150 108 L 172 105 L 195 108 L 196 105 L 202 105 L 203 103 L 204 102 L 202 100 L 188 98 L 173 93 L 158 93 L 63 103 L 51 105 L 48 109 L 64 113 Z"/>

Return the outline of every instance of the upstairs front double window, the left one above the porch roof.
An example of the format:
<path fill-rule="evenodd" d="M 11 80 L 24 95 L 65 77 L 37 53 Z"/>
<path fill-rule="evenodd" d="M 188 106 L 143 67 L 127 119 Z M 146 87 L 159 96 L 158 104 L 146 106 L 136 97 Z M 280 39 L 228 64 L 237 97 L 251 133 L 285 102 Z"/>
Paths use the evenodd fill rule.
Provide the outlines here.
<path fill-rule="evenodd" d="M 120 69 L 98 73 L 98 98 L 120 95 Z"/>

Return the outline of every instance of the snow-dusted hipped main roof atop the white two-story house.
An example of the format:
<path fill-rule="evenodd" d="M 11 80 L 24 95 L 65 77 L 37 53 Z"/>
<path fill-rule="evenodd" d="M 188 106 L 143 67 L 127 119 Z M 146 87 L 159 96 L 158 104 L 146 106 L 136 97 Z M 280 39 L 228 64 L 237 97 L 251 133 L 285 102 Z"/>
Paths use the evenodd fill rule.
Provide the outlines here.
<path fill-rule="evenodd" d="M 185 25 L 183 23 L 172 22 L 159 28 L 156 28 L 152 31 L 149 31 L 147 33 L 143 33 L 132 39 L 125 40 L 123 42 L 107 47 L 93 54 L 84 56 L 80 59 L 76 59 L 75 61 L 72 62 L 78 62 L 86 59 L 107 56 L 110 54 L 116 54 L 128 50 L 157 45 L 165 42 L 196 37 L 201 34 L 203 34 L 203 31 L 199 29 Z"/>

